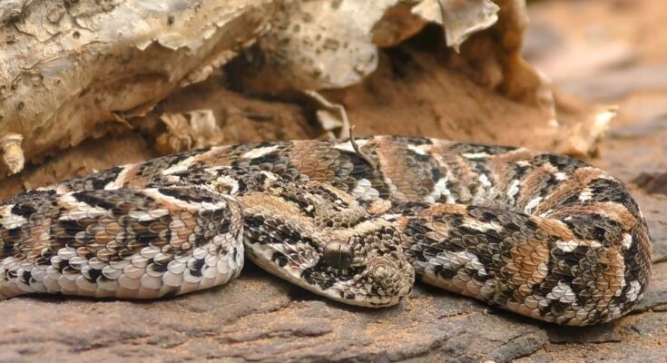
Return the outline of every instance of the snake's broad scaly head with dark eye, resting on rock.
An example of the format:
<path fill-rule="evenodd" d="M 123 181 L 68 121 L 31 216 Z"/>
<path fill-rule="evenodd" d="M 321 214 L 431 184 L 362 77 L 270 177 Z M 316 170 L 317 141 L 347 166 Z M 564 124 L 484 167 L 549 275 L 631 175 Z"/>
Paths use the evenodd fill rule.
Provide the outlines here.
<path fill-rule="evenodd" d="M 338 200 L 329 186 L 293 185 L 298 190 L 240 197 L 251 260 L 304 289 L 350 305 L 391 306 L 410 293 L 415 270 L 401 250 L 402 235 L 395 226 L 371 218 L 357 201 Z"/>

